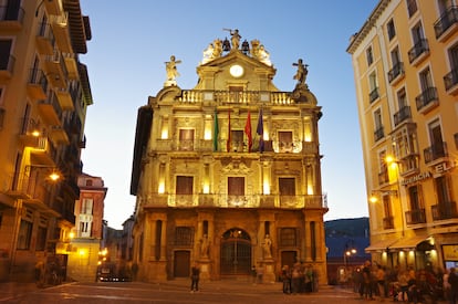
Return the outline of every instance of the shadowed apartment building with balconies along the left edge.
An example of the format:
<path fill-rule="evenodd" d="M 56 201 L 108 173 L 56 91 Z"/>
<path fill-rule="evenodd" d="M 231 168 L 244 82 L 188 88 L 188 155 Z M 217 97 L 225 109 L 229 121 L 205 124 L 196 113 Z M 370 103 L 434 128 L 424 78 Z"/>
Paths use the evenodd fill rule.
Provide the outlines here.
<path fill-rule="evenodd" d="M 0 1 L 0 280 L 64 268 L 92 104 L 79 0 Z"/>

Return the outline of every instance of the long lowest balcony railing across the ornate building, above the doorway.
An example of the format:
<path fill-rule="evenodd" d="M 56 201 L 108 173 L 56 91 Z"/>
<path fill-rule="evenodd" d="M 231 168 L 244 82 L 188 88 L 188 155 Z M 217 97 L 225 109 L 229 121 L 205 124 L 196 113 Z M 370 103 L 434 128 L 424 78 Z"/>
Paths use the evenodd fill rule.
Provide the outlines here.
<path fill-rule="evenodd" d="M 158 195 L 144 199 L 148 207 L 211 207 L 211 208 L 327 208 L 322 196 L 280 195 Z"/>

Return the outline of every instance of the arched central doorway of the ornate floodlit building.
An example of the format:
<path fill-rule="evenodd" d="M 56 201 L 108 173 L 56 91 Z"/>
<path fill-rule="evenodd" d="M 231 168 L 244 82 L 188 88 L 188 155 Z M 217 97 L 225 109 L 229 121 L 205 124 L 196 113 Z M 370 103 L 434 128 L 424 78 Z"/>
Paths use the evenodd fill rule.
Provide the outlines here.
<path fill-rule="evenodd" d="M 242 229 L 232 228 L 222 234 L 221 275 L 250 274 L 251 238 Z"/>

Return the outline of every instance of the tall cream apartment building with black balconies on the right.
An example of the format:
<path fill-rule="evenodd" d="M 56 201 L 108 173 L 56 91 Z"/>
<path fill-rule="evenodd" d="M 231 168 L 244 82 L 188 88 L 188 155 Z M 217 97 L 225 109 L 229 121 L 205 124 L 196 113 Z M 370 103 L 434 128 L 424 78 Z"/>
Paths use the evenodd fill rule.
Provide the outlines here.
<path fill-rule="evenodd" d="M 350 42 L 373 260 L 458 263 L 458 7 L 381 0 Z"/>

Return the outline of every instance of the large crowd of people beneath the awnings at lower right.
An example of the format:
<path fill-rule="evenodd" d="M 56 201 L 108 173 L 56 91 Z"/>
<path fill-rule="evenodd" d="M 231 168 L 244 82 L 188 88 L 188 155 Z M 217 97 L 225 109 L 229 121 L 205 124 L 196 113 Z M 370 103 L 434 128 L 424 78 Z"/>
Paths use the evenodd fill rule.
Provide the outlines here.
<path fill-rule="evenodd" d="M 441 271 L 427 266 L 421 270 L 394 268 L 387 269 L 366 261 L 355 268 L 351 277 L 354 291 L 362 298 L 392 298 L 394 302 L 436 303 L 439 300 L 457 304 L 458 274 L 454 268 Z"/>

